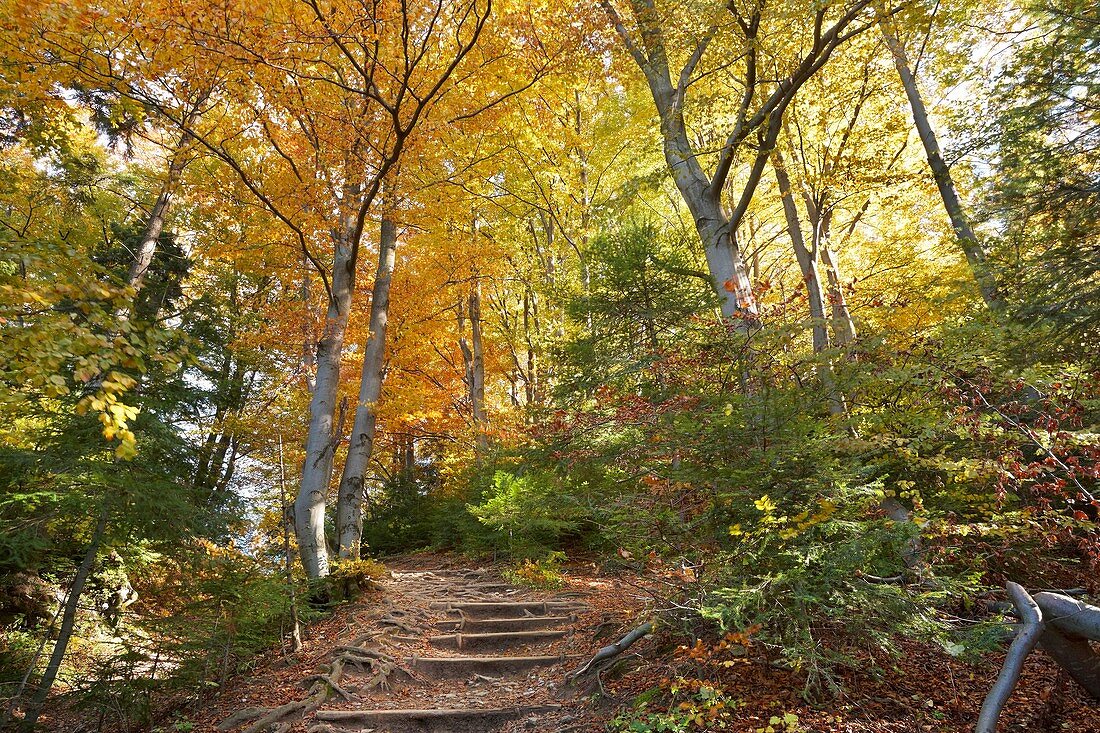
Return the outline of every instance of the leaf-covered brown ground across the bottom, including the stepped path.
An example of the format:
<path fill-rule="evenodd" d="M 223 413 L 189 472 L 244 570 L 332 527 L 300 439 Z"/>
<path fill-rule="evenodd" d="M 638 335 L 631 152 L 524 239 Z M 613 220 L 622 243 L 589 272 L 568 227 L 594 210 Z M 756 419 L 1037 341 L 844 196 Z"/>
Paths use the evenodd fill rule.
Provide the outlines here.
<path fill-rule="evenodd" d="M 391 577 L 380 581 L 377 588 L 310 626 L 300 653 L 286 655 L 273 650 L 215 699 L 178 711 L 175 720 L 186 719 L 194 725 L 191 731 L 215 733 L 227 730 L 224 725 L 219 729 L 219 724 L 242 709 L 272 709 L 302 700 L 310 681 L 314 680 L 316 689 L 316 676 L 330 670 L 342 647 L 361 645 L 375 649 L 375 658 L 395 663 L 396 669 L 387 677 L 385 687 L 373 687 L 371 675 L 348 667 L 339 683 L 340 692 L 330 694 L 317 710 L 292 714 L 282 726 L 270 730 L 606 731 L 608 721 L 638 694 L 662 685 L 667 687 L 669 680 L 678 677 L 689 677 L 721 686 L 729 699 L 737 701 L 724 709 L 728 716 L 721 730 L 725 731 L 758 733 L 768 730 L 773 716 L 788 715 L 792 722 L 785 727 L 776 725 L 776 733 L 964 733 L 972 730 L 1001 663 L 997 656 L 971 665 L 938 646 L 903 641 L 898 659 L 882 663 L 876 674 L 853 672 L 845 680 L 845 693 L 810 704 L 800 697 L 803 678 L 769 664 L 755 652 L 756 647 L 750 646 L 748 656 L 737 664 L 702 665 L 683 647 L 678 648 L 676 639 L 658 633 L 622 655 L 627 663 L 625 672 L 615 678 L 605 675 L 601 679 L 603 692 L 594 694 L 598 688 L 593 680 L 574 689 L 564 683 L 566 674 L 603 645 L 618 639 L 636 625 L 639 614 L 659 603 L 659 581 L 622 570 L 606 575 L 593 565 L 573 564 L 563 572 L 561 588 L 536 591 L 507 583 L 492 567 L 471 566 L 463 558 L 448 555 L 392 559 L 387 567 Z M 447 600 L 455 605 L 486 601 L 549 605 L 515 606 L 518 609 L 515 613 L 466 606 L 466 613 L 460 614 L 455 605 L 447 608 Z M 457 627 L 463 615 L 471 619 L 468 624 L 481 624 L 475 632 L 499 633 L 505 627 L 522 626 L 564 633 L 536 634 L 529 641 L 521 638 L 507 644 L 503 643 L 507 639 L 488 638 L 493 648 L 483 650 L 454 637 L 454 631 L 462 633 Z M 494 626 L 497 622 L 493 621 L 476 621 L 485 616 L 510 616 L 516 621 L 501 622 L 503 626 Z M 531 621 L 543 616 L 557 621 Z M 431 641 L 432 636 L 437 638 Z M 537 665 L 530 669 L 501 663 L 502 657 L 515 656 L 541 660 L 525 663 Z M 449 670 L 430 661 L 439 657 L 473 660 Z M 654 700 L 651 710 L 657 708 Z M 498 718 L 451 714 L 439 719 L 431 718 L 432 713 L 402 713 L 387 719 L 387 713 L 370 712 L 432 709 L 492 710 L 497 711 L 492 714 Z M 248 730 L 255 720 L 231 730 Z M 162 730 L 187 729 L 168 723 Z M 690 729 L 628 730 L 719 727 L 717 723 L 704 723 Z M 1059 675 L 1054 663 L 1036 652 L 1028 658 L 1020 686 L 1004 711 L 1001 731 L 1100 733 L 1100 709 L 1090 705 L 1087 697 Z"/>

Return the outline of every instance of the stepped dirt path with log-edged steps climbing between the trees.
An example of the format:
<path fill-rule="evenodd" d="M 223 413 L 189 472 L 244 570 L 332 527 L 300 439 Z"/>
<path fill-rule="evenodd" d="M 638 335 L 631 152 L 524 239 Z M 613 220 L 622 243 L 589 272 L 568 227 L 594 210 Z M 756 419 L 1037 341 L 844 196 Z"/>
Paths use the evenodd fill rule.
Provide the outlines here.
<path fill-rule="evenodd" d="M 398 569 L 380 584 L 381 613 L 340 647 L 361 664 L 344 666 L 337 694 L 306 716 L 307 731 L 575 726 L 562 686 L 592 653 L 582 593 L 526 590 L 484 569 Z"/>

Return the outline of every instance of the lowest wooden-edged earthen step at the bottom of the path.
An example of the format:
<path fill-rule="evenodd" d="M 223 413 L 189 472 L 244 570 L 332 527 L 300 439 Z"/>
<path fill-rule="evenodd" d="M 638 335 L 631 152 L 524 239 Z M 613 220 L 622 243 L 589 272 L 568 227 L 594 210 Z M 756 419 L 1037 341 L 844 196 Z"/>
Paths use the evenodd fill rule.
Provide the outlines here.
<path fill-rule="evenodd" d="M 558 712 L 561 705 L 517 705 L 515 708 L 459 708 L 432 710 L 319 710 L 316 720 L 337 724 L 385 726 L 387 731 L 431 733 L 482 733 L 504 723 L 543 713 Z"/>

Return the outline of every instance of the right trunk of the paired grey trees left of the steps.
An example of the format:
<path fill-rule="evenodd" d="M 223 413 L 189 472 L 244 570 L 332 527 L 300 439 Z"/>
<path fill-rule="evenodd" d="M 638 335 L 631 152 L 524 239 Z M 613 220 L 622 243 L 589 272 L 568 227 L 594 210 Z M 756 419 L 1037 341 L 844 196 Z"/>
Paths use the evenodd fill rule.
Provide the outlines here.
<path fill-rule="evenodd" d="M 378 400 L 385 378 L 386 326 L 389 321 L 389 287 L 393 282 L 397 250 L 397 225 L 389 216 L 382 219 L 378 237 L 378 269 L 371 295 L 371 320 L 363 349 L 363 372 L 359 387 L 359 404 L 352 425 L 348 459 L 340 477 L 337 500 L 337 536 L 340 557 L 359 559 L 363 538 L 363 499 L 366 469 L 374 450 L 374 434 L 378 422 Z"/>

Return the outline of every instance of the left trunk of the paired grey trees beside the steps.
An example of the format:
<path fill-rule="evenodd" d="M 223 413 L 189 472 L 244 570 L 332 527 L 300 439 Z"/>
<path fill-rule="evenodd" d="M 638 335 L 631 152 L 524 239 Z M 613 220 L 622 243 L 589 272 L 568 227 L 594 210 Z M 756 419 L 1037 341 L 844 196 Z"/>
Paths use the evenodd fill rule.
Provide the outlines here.
<path fill-rule="evenodd" d="M 324 315 L 321 339 L 315 359 L 317 374 L 309 398 L 309 427 L 306 434 L 306 459 L 301 483 L 294 503 L 294 530 L 306 576 L 322 578 L 329 573 L 329 550 L 324 537 L 324 508 L 332 459 L 340 436 L 336 435 L 337 395 L 340 386 L 340 358 L 343 353 L 348 318 L 355 286 L 355 247 L 351 241 L 354 226 L 345 222 L 334 233 L 331 296 Z"/>

